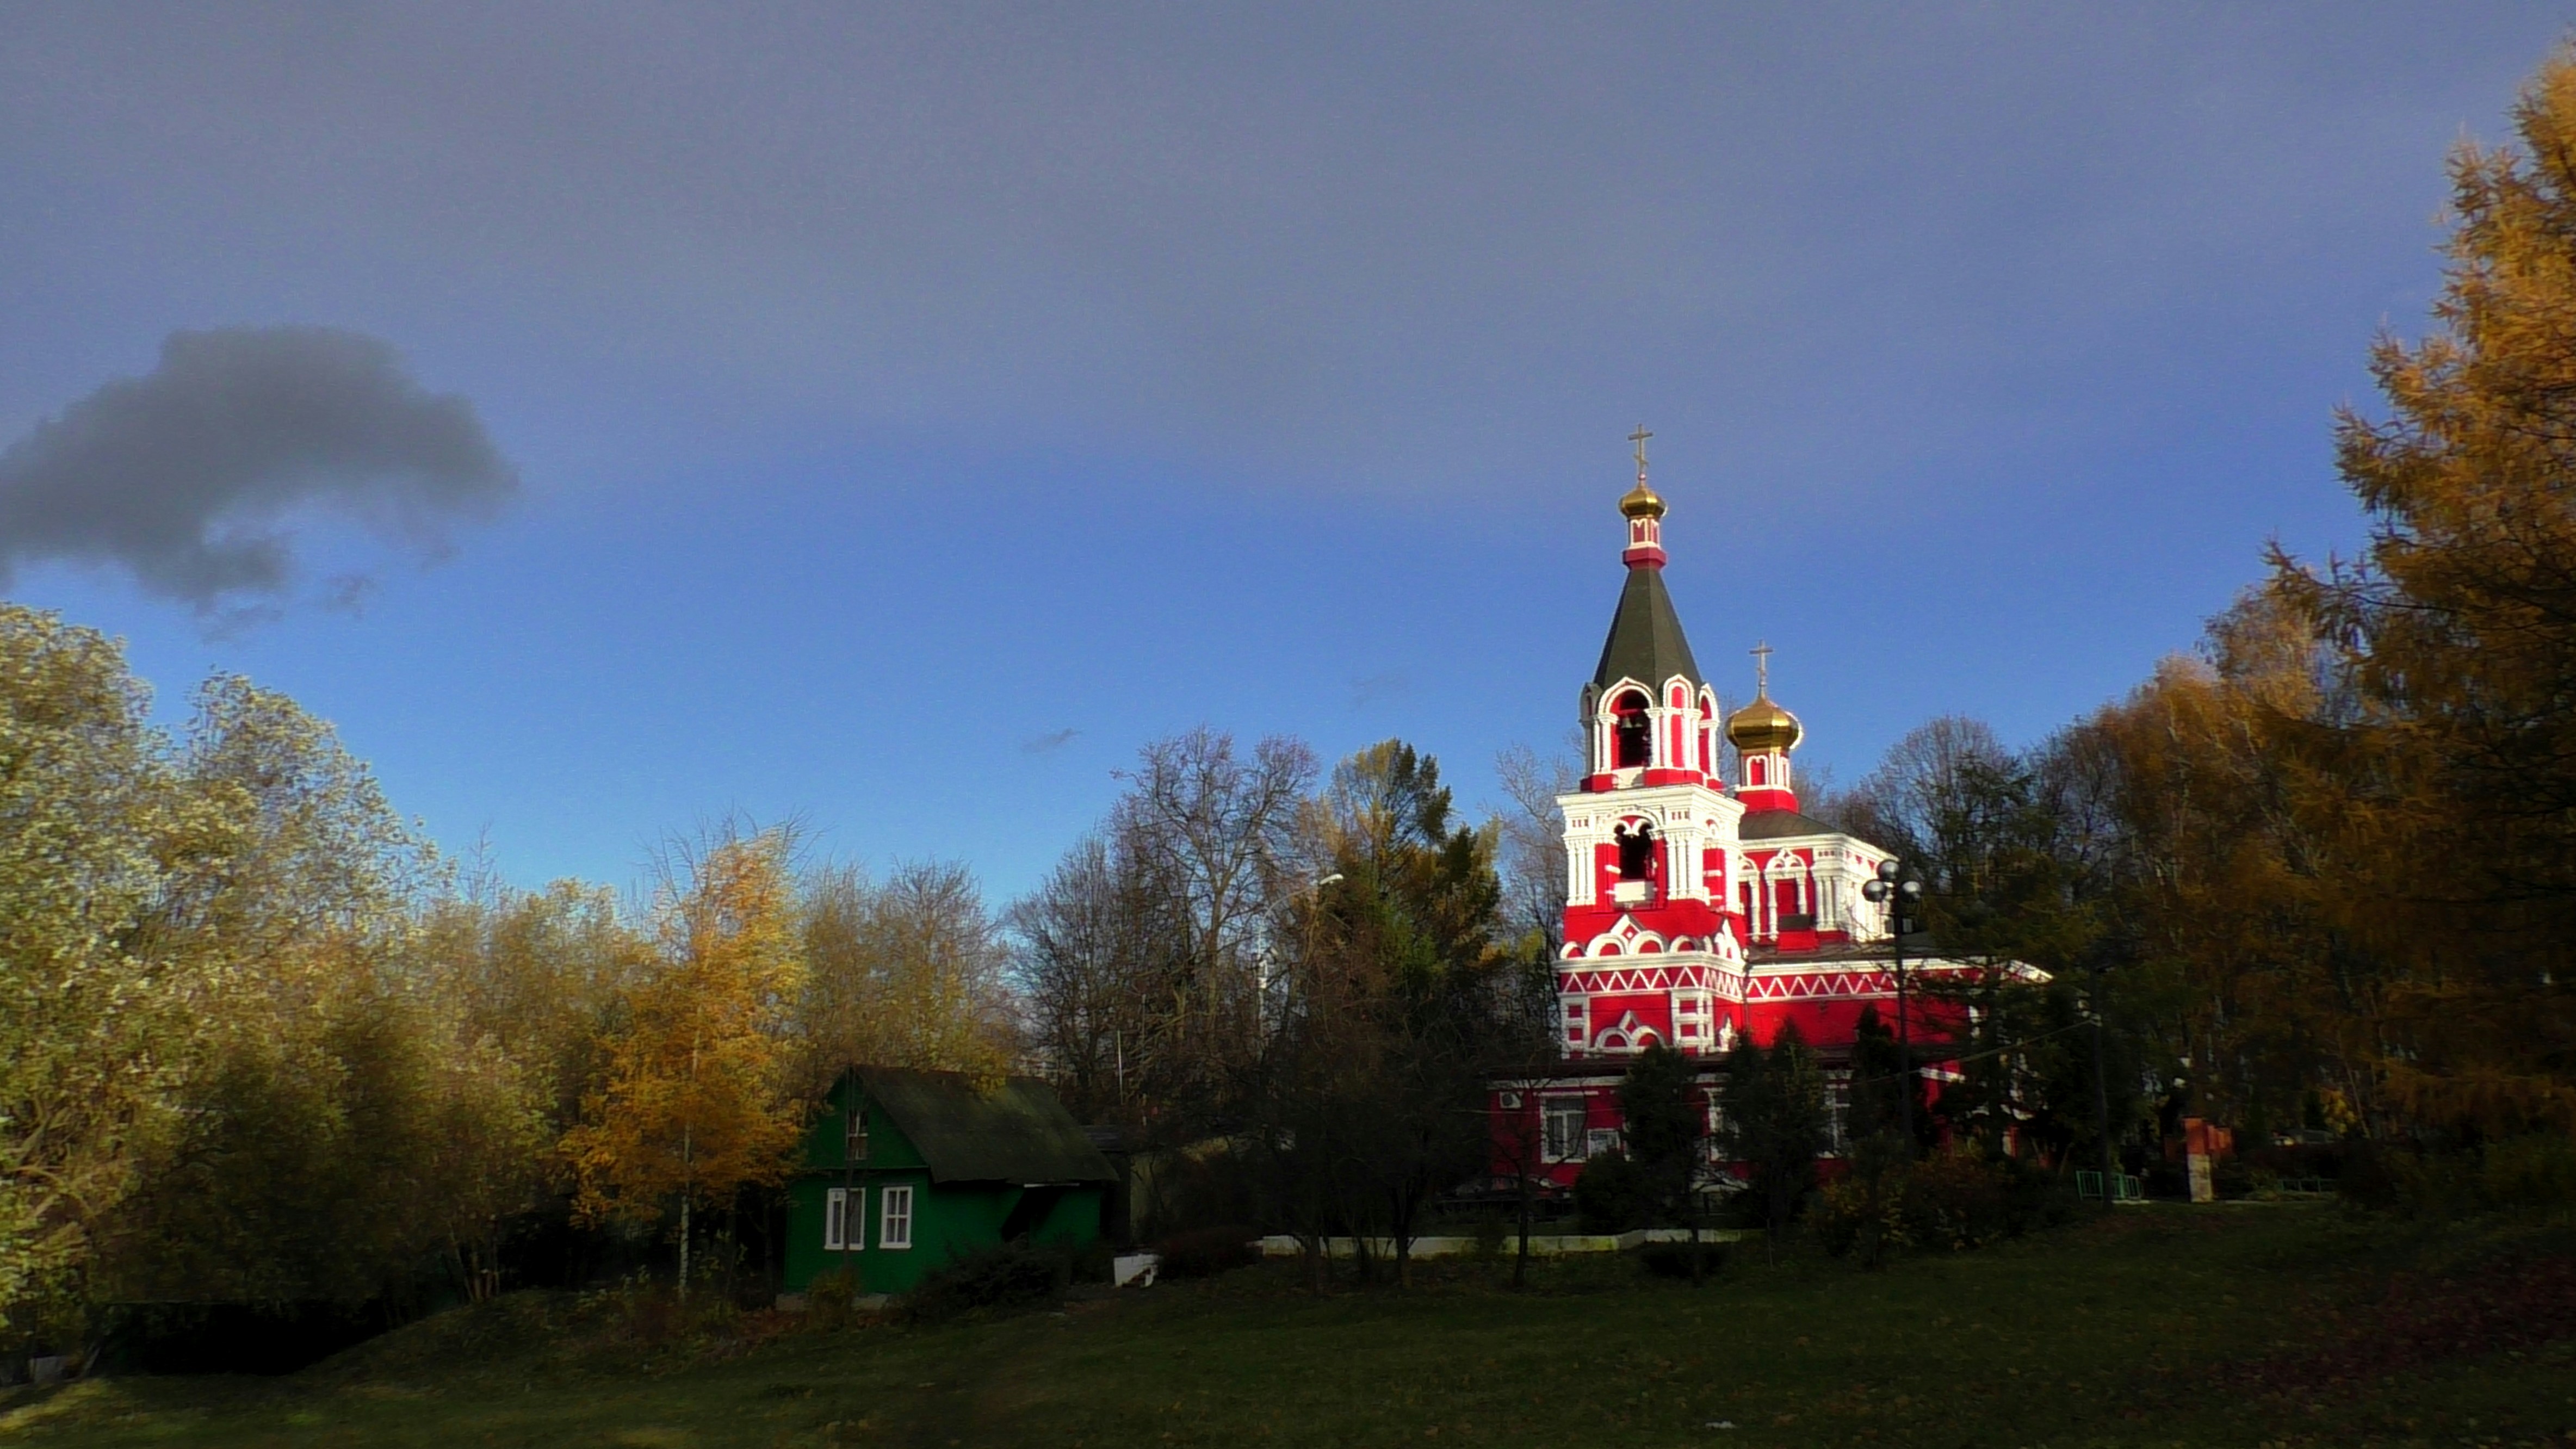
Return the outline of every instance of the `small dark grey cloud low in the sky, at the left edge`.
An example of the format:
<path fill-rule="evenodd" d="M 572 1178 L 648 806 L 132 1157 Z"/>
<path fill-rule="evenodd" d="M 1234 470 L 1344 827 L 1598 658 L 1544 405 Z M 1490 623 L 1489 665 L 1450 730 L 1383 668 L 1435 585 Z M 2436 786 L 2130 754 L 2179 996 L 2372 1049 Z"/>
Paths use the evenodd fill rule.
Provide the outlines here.
<path fill-rule="evenodd" d="M 113 565 L 201 614 L 255 619 L 296 583 L 291 523 L 327 513 L 435 559 L 518 490 L 474 405 L 379 338 L 332 327 L 170 333 L 160 366 L 72 402 L 0 454 L 0 583 Z M 366 575 L 335 575 L 361 608 Z M 245 614 L 247 608 L 247 614 Z"/>

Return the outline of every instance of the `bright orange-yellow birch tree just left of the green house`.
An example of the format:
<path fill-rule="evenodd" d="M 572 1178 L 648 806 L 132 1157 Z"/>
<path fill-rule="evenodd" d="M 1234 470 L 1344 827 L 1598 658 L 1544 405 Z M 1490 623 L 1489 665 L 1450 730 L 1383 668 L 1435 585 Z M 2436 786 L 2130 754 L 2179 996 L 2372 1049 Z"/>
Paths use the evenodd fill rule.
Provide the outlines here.
<path fill-rule="evenodd" d="M 693 1209 L 783 1181 L 804 1127 L 788 1091 L 804 954 L 786 835 L 724 838 L 690 859 L 654 928 L 659 969 L 629 990 L 564 1155 L 587 1222 L 659 1220 L 677 1199 L 685 1297 Z"/>

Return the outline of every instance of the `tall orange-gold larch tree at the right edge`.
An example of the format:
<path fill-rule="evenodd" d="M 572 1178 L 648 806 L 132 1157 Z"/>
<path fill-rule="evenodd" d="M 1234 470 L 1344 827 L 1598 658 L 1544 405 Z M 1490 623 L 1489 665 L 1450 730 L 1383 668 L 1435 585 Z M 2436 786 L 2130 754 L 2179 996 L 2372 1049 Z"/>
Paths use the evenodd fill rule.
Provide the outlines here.
<path fill-rule="evenodd" d="M 2336 425 L 2360 559 L 2275 557 L 2331 650 L 2282 722 L 2347 871 L 2336 926 L 2378 977 L 2396 1106 L 2486 1132 L 2576 1129 L 2576 54 L 2463 144 L 2432 335 L 2380 338 L 2385 415 Z M 2306 727 L 2293 727 L 2306 724 Z"/>

